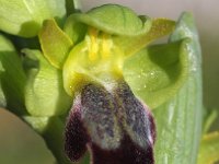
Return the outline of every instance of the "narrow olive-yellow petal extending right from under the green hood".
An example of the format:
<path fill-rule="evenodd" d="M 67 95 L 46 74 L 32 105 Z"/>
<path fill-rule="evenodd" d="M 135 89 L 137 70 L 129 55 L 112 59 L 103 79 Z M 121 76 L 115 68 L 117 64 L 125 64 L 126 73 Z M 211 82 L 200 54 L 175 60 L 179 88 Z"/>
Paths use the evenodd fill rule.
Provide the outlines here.
<path fill-rule="evenodd" d="M 114 43 L 124 51 L 126 56 L 134 55 L 146 47 L 154 39 L 161 38 L 175 27 L 175 22 L 166 19 L 152 20 L 152 26 L 148 33 L 141 36 L 114 36 Z"/>

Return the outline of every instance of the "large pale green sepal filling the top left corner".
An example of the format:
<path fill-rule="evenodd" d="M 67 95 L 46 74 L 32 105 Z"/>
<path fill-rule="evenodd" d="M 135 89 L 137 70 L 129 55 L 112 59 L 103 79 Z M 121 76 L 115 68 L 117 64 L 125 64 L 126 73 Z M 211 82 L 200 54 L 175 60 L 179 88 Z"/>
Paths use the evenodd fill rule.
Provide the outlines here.
<path fill-rule="evenodd" d="M 36 36 L 43 21 L 66 16 L 65 0 L 0 0 L 0 30 L 10 34 Z"/>

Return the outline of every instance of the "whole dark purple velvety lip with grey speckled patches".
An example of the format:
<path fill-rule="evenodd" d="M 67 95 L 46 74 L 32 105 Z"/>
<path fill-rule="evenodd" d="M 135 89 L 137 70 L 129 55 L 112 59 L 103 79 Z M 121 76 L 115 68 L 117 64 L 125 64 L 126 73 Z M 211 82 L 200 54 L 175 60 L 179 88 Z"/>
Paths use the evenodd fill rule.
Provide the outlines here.
<path fill-rule="evenodd" d="M 154 163 L 153 117 L 125 82 L 111 91 L 85 85 L 74 99 L 65 137 L 71 161 L 89 149 L 92 164 Z"/>

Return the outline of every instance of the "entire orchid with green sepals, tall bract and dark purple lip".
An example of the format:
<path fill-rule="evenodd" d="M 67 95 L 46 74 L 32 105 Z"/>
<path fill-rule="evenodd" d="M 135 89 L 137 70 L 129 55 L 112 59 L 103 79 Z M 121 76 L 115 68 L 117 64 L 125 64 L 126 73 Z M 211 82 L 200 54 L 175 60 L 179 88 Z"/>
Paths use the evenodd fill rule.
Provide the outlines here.
<path fill-rule="evenodd" d="M 175 22 L 119 4 L 83 13 L 68 0 L 0 0 L 0 105 L 58 163 L 196 164 L 201 57 L 191 13 Z"/>

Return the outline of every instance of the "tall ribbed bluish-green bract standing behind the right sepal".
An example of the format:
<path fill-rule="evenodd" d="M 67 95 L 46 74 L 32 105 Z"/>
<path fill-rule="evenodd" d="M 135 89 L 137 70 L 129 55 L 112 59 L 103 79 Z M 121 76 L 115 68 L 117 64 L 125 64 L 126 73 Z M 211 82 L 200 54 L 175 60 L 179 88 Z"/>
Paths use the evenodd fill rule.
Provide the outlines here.
<path fill-rule="evenodd" d="M 193 16 L 183 13 L 170 40 L 189 38 L 188 79 L 180 92 L 153 110 L 158 128 L 157 164 L 196 164 L 201 134 L 200 48 Z"/>

